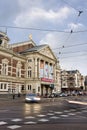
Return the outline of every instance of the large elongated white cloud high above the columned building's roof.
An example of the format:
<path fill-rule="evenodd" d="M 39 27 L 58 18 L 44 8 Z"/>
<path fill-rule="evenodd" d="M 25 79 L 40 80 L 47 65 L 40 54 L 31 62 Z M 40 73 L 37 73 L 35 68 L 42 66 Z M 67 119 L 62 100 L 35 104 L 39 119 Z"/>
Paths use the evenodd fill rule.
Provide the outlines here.
<path fill-rule="evenodd" d="M 44 24 L 52 23 L 58 24 L 63 23 L 65 19 L 68 18 L 71 11 L 68 7 L 62 7 L 58 11 L 52 9 L 46 10 L 43 8 L 33 7 L 25 11 L 20 12 L 14 20 L 16 26 L 37 26 L 40 23 Z"/>

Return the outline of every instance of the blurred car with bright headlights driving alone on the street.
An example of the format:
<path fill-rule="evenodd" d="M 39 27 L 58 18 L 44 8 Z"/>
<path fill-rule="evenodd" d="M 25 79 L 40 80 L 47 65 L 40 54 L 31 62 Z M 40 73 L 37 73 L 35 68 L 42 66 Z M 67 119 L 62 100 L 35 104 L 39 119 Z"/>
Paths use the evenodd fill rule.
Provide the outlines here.
<path fill-rule="evenodd" d="M 35 93 L 29 93 L 25 96 L 25 102 L 40 102 L 41 98 Z"/>

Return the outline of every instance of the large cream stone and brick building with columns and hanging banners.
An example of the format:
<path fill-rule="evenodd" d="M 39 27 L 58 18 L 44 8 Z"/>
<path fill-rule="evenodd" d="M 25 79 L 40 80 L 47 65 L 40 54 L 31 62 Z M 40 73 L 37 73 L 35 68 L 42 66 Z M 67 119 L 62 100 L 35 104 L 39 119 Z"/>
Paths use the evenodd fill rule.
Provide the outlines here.
<path fill-rule="evenodd" d="M 0 93 L 61 91 L 60 66 L 48 45 L 29 41 L 9 44 L 0 32 Z"/>

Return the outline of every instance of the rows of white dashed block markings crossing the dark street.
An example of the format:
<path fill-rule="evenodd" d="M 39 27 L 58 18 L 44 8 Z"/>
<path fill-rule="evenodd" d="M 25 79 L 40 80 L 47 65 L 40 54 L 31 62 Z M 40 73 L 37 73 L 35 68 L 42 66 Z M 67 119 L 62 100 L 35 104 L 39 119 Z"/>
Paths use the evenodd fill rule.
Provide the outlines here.
<path fill-rule="evenodd" d="M 87 118 L 86 117 L 87 110 L 82 109 L 80 111 L 76 111 L 75 109 L 64 110 L 64 111 L 49 111 L 41 114 L 35 114 L 34 116 L 24 116 L 22 118 L 9 118 L 8 120 L 0 120 L 0 126 L 3 126 L 6 130 L 16 130 L 23 125 L 36 125 L 41 123 L 50 123 L 50 122 L 58 122 L 62 119 L 79 119 L 79 118 Z"/>

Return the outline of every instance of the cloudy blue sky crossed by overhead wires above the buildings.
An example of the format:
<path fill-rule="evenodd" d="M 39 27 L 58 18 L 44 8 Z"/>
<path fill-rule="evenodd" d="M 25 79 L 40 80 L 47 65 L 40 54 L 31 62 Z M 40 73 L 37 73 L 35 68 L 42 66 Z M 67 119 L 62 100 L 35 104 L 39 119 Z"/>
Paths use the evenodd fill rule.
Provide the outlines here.
<path fill-rule="evenodd" d="M 63 70 L 87 75 L 87 0 L 0 0 L 0 31 L 10 43 L 48 44 Z"/>

